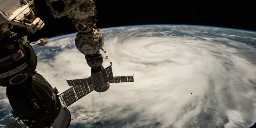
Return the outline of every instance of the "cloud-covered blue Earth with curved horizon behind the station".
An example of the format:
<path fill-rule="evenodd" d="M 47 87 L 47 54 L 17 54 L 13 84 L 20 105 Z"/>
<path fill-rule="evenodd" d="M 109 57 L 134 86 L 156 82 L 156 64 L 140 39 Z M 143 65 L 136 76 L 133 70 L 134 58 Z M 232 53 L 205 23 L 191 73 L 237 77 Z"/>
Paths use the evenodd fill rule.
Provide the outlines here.
<path fill-rule="evenodd" d="M 256 122 L 256 32 L 210 26 L 105 28 L 103 66 L 134 82 L 114 83 L 68 106 L 69 128 L 248 128 Z M 36 71 L 58 89 L 88 78 L 76 34 L 33 46 Z M 0 126 L 14 121 L 0 88 Z"/>

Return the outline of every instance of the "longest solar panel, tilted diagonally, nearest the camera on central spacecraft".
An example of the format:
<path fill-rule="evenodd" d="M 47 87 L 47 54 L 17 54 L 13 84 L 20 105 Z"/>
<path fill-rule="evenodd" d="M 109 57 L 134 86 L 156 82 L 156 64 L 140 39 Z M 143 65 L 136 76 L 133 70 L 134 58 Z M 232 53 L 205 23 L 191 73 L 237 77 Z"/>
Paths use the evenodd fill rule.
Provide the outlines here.
<path fill-rule="evenodd" d="M 111 79 L 113 79 L 112 67 L 108 66 L 87 79 L 67 80 L 70 86 L 77 84 L 60 94 L 59 97 L 64 106 L 68 107 Z"/>

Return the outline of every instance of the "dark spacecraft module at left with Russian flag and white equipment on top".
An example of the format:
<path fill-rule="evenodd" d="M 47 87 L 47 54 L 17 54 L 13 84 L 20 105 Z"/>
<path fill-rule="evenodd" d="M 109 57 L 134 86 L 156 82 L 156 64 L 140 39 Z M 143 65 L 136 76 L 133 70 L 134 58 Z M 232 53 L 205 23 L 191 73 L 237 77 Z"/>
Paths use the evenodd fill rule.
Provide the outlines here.
<path fill-rule="evenodd" d="M 37 72 L 37 57 L 27 40 L 44 26 L 36 17 L 31 0 L 0 0 L 0 86 L 18 120 L 7 128 L 18 128 L 22 121 L 30 128 L 66 128 L 71 116 L 61 105 L 58 90 Z M 44 40 L 44 39 L 42 39 Z M 65 120 L 65 121 L 63 121 Z"/>

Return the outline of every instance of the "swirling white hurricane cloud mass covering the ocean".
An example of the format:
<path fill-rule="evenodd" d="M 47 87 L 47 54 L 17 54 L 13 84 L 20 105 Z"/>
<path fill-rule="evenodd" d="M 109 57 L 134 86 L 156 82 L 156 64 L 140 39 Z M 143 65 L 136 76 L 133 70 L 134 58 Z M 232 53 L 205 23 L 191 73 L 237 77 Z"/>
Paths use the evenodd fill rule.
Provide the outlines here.
<path fill-rule="evenodd" d="M 122 44 L 118 39 L 105 40 L 107 53 L 103 56 L 109 58 L 104 60 L 104 67 L 113 62 L 114 76 L 134 74 L 134 83 L 111 84 L 110 89 L 100 95 L 95 92 L 80 99 L 69 107 L 76 118 L 72 124 L 125 120 L 138 113 L 136 120 L 144 121 L 130 124 L 132 122 L 128 120 L 129 125 L 150 125 L 152 122 L 148 120 L 156 119 L 162 127 L 181 127 L 197 124 L 202 120 L 197 115 L 203 111 L 213 114 L 213 121 L 208 120 L 209 123 L 216 123 L 218 118 L 215 116 L 226 110 L 243 110 L 235 105 L 244 102 L 245 97 L 248 100 L 253 97 L 246 95 L 247 89 L 239 86 L 249 79 L 254 80 L 252 69 L 255 65 L 236 56 L 235 48 L 218 41 L 235 44 L 228 39 L 197 40 L 191 37 L 131 36 L 122 40 Z M 41 61 L 38 65 L 38 73 L 42 72 L 60 92 L 68 88 L 64 79 L 90 76 L 86 60 L 76 48 L 60 52 L 54 60 L 46 64 Z M 228 94 L 223 94 L 224 90 Z M 93 103 L 90 96 L 94 98 Z M 204 106 L 205 100 L 214 102 Z M 232 102 L 226 103 L 228 100 Z M 73 107 L 78 106 L 84 109 L 73 111 Z M 226 115 L 230 117 L 230 114 Z M 244 119 L 230 118 L 226 126 L 236 120 L 243 122 Z"/>

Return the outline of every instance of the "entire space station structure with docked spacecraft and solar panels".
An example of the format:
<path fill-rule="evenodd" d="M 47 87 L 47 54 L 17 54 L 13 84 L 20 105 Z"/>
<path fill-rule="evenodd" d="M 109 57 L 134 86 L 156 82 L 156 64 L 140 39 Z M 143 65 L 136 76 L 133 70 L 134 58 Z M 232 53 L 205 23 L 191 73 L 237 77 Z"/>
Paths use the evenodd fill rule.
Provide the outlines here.
<path fill-rule="evenodd" d="M 0 86 L 6 95 L 16 121 L 5 128 L 68 128 L 71 120 L 67 107 L 93 90 L 104 92 L 110 83 L 134 82 L 133 76 L 113 76 L 112 64 L 102 66 L 104 39 L 96 27 L 96 7 L 93 0 L 62 0 L 65 8 L 55 10 L 46 0 L 55 18 L 68 16 L 78 30 L 77 49 L 85 55 L 91 76 L 86 79 L 66 80 L 72 86 L 58 95 L 46 79 L 36 72 L 36 54 L 27 40 L 44 26 L 36 17 L 33 0 L 0 0 Z M 47 38 L 38 40 L 44 46 Z M 106 52 L 105 52 L 106 53 Z"/>

